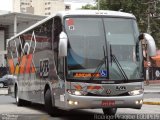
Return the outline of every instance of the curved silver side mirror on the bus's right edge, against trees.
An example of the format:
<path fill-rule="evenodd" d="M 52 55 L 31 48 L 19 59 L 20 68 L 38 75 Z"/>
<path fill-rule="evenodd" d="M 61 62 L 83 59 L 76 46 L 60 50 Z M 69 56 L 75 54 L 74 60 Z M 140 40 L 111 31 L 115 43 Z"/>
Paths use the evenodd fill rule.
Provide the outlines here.
<path fill-rule="evenodd" d="M 139 40 L 147 41 L 147 53 L 150 57 L 156 56 L 156 44 L 153 37 L 150 34 L 143 33 L 139 36 Z"/>

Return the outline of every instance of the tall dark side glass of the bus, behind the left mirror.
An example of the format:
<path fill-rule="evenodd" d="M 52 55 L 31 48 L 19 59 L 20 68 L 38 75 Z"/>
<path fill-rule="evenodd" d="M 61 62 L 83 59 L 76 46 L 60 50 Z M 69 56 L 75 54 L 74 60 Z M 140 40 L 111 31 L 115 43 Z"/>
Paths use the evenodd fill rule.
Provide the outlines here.
<path fill-rule="evenodd" d="M 64 79 L 64 58 L 58 57 L 58 44 L 59 44 L 59 34 L 62 31 L 61 19 L 59 17 L 54 18 L 54 28 L 53 28 L 53 50 L 54 50 L 54 59 L 57 69 L 57 74 L 61 79 Z"/>

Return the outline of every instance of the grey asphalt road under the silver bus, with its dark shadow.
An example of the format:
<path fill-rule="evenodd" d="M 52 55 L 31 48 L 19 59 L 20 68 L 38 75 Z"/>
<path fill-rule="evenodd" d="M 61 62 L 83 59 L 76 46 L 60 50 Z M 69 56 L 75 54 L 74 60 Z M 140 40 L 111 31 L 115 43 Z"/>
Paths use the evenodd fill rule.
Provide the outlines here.
<path fill-rule="evenodd" d="M 160 120 L 160 105 L 143 104 L 141 109 L 118 108 L 116 116 L 120 119 L 110 120 Z M 17 107 L 14 98 L 0 95 L 0 120 L 105 120 L 104 117 L 101 109 L 61 110 L 60 115 L 51 117 L 46 113 L 43 105 L 31 104 Z"/>

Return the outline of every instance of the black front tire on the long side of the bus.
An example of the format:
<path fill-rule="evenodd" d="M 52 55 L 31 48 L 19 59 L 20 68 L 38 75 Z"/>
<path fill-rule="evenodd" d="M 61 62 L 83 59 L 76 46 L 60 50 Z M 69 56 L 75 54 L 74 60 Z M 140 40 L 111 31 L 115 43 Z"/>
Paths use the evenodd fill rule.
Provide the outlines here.
<path fill-rule="evenodd" d="M 59 114 L 58 112 L 59 110 L 56 107 L 53 107 L 50 89 L 46 91 L 44 100 L 45 100 L 45 109 L 47 113 L 51 116 L 57 116 Z"/>

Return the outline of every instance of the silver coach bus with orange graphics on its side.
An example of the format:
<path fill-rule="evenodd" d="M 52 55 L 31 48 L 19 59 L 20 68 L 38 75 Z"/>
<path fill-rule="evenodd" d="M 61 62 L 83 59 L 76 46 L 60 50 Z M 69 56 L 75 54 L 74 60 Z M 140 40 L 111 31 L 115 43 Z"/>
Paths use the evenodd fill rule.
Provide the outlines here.
<path fill-rule="evenodd" d="M 134 15 L 119 11 L 59 12 L 7 41 L 12 95 L 59 109 L 140 109 L 143 104 L 141 40 L 156 54 L 154 39 L 139 34 Z"/>

